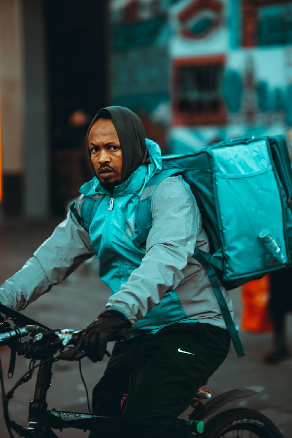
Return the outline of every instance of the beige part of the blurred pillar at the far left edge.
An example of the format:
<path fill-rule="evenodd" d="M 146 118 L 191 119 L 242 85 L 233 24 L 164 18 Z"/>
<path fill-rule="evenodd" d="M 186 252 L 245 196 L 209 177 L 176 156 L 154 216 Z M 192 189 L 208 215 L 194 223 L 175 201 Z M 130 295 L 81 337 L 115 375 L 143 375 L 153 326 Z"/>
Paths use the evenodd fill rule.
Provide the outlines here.
<path fill-rule="evenodd" d="M 23 67 L 21 0 L 0 0 L 1 215 L 23 210 Z"/>

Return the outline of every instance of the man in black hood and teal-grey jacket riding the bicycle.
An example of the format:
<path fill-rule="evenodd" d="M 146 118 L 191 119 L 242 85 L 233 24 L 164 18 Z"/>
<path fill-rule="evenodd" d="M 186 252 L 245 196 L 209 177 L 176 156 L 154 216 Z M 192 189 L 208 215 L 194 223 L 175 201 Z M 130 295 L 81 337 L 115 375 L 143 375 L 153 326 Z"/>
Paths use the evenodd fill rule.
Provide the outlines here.
<path fill-rule="evenodd" d="M 96 176 L 81 187 L 67 219 L 3 284 L 0 302 L 24 309 L 96 255 L 112 296 L 85 330 L 84 350 L 96 362 L 108 341 L 118 342 L 93 390 L 94 413 L 122 412 L 122 430 L 131 437 L 192 437 L 177 416 L 230 346 L 207 273 L 192 257 L 196 246 L 209 251 L 199 209 L 182 177 L 166 178 L 152 195 L 147 240 L 135 246 L 137 203 L 149 196 L 143 189 L 162 169 L 160 149 L 145 140 L 136 114 L 109 106 L 91 122 L 88 152 Z M 86 230 L 81 209 L 88 197 L 99 205 Z M 223 286 L 222 292 L 232 312 Z M 130 330 L 128 339 L 119 340 L 121 329 Z"/>

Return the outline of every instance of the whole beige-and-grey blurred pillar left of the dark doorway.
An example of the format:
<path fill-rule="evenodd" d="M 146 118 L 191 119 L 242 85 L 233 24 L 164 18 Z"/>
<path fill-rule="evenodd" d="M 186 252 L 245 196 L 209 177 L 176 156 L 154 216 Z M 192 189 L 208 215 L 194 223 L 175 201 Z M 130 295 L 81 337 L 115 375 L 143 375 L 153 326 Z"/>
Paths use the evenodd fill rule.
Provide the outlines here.
<path fill-rule="evenodd" d="M 42 1 L 0 0 L 1 215 L 48 214 Z"/>

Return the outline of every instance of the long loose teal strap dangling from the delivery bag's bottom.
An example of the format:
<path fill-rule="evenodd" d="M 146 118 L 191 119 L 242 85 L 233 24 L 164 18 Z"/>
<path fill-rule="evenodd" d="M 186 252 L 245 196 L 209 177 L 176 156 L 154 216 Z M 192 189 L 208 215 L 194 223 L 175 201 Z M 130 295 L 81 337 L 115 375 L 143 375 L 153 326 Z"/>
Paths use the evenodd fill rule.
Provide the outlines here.
<path fill-rule="evenodd" d="M 222 290 L 220 288 L 215 269 L 213 268 L 211 263 L 207 260 L 207 258 L 205 257 L 204 254 L 205 254 L 204 251 L 200 251 L 198 248 L 196 248 L 195 252 L 193 254 L 193 258 L 195 258 L 199 263 L 201 263 L 201 265 L 203 265 L 204 268 L 206 269 L 206 272 L 207 272 L 207 275 L 209 277 L 212 289 L 213 289 L 215 296 L 217 298 L 223 319 L 224 319 L 226 327 L 230 333 L 232 343 L 233 343 L 233 346 L 235 348 L 237 357 L 245 356 L 246 353 L 245 353 L 245 351 L 243 349 L 243 345 L 239 339 L 239 335 L 236 331 L 234 322 L 232 321 L 231 314 L 230 314 L 229 308 L 227 307 Z"/>

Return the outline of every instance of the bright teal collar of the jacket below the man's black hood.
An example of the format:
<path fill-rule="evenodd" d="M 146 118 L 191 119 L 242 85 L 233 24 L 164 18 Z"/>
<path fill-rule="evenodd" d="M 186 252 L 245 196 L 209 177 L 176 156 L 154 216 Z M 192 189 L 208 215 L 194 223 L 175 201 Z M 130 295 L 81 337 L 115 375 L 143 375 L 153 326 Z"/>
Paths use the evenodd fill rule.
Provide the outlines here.
<path fill-rule="evenodd" d="M 123 196 L 125 194 L 142 192 L 144 186 L 148 183 L 151 177 L 162 170 L 161 150 L 155 141 L 146 138 L 146 145 L 151 157 L 151 163 L 142 164 L 133 172 L 130 177 L 119 186 L 116 186 L 113 196 Z M 99 185 L 97 177 L 83 184 L 79 190 L 81 194 L 89 196 L 95 193 L 109 194 L 102 186 Z"/>

